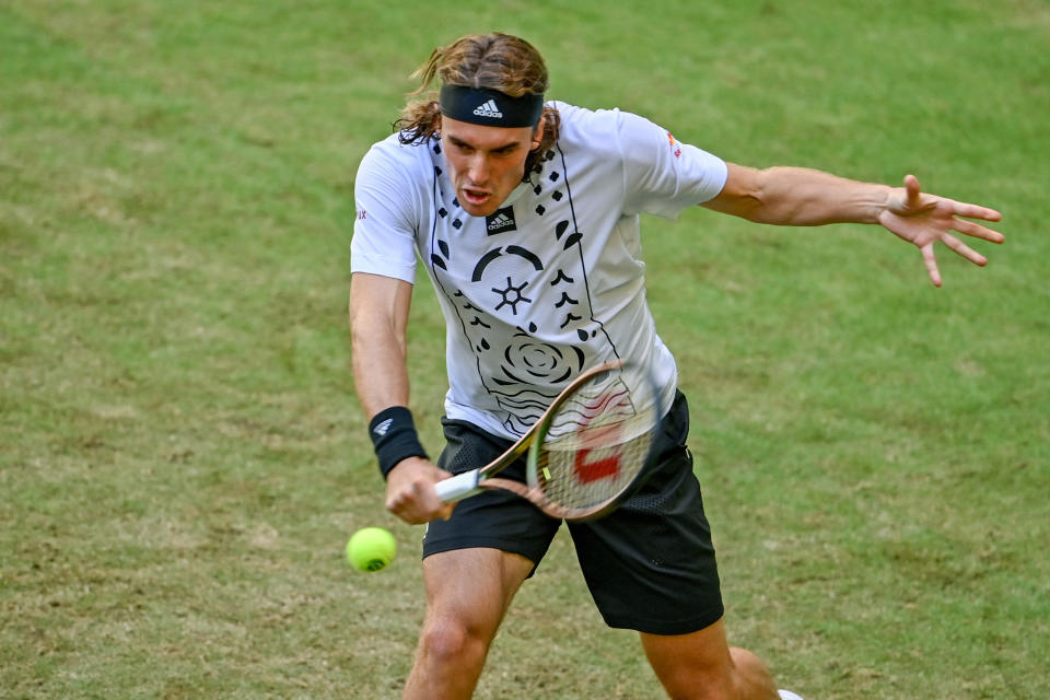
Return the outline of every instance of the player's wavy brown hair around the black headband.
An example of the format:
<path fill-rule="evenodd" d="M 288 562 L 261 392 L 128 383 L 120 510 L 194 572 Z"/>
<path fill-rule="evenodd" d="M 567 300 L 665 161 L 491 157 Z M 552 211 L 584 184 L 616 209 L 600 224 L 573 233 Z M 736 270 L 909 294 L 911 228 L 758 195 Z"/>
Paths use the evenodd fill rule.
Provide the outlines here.
<path fill-rule="evenodd" d="M 412 78 L 420 79 L 420 85 L 409 96 L 425 95 L 409 102 L 394 122 L 398 139 L 405 144 L 423 143 L 440 136 L 436 92 L 428 90 L 435 79 L 447 85 L 498 90 L 511 97 L 544 94 L 549 85 L 547 65 L 539 51 L 525 39 L 499 32 L 471 34 L 435 48 Z M 558 110 L 545 106 L 544 117 L 542 138 L 539 148 L 529 151 L 525 159 L 524 179 L 539 170 L 544 154 L 558 140 Z"/>

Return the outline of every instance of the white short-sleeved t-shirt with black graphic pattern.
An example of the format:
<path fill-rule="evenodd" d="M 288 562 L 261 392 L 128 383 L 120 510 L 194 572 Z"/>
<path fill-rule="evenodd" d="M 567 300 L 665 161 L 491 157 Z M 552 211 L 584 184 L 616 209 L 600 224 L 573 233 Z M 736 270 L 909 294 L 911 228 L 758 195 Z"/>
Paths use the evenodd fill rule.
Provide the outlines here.
<path fill-rule="evenodd" d="M 438 140 L 376 143 L 358 170 L 351 271 L 430 273 L 447 326 L 445 412 L 517 438 L 582 370 L 654 368 L 663 409 L 674 358 L 645 303 L 639 214 L 668 219 L 716 196 L 726 166 L 629 113 L 550 103 L 542 171 L 489 217 L 459 207 Z"/>

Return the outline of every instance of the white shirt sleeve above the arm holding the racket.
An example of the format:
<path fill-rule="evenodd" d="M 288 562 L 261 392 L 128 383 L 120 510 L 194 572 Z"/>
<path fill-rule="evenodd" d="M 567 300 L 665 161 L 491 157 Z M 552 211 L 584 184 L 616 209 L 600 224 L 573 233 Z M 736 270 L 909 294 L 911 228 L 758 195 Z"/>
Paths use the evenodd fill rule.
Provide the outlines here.
<path fill-rule="evenodd" d="M 350 271 L 416 281 L 415 189 L 409 171 L 388 152 L 372 147 L 353 186 L 357 219 L 350 241 Z"/>

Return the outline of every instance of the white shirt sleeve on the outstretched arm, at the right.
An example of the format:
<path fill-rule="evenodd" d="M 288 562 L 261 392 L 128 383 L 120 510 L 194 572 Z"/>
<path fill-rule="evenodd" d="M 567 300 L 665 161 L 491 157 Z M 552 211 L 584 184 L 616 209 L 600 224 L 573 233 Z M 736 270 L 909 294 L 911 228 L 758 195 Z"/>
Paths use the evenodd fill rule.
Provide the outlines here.
<path fill-rule="evenodd" d="M 728 176 L 722 159 L 678 141 L 644 117 L 619 114 L 626 214 L 645 212 L 675 219 L 686 207 L 722 191 Z"/>

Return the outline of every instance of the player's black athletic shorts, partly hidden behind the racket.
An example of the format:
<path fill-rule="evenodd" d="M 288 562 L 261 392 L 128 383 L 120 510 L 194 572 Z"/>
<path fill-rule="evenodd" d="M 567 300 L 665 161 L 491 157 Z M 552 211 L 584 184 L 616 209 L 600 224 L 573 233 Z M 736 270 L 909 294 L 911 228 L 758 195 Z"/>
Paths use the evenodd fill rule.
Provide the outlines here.
<path fill-rule="evenodd" d="M 453 472 L 483 466 L 512 441 L 443 419 L 447 445 L 438 464 Z M 652 634 L 686 634 L 724 611 L 711 528 L 686 448 L 689 408 L 679 392 L 661 427 L 657 459 L 648 479 L 610 515 L 570 523 L 580 567 L 609 627 Z M 525 480 L 525 460 L 500 472 Z M 561 521 L 523 498 L 493 489 L 460 501 L 447 521 L 434 521 L 423 557 L 470 547 L 544 558 Z"/>

